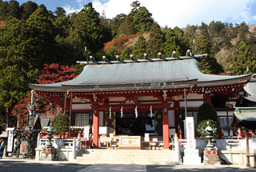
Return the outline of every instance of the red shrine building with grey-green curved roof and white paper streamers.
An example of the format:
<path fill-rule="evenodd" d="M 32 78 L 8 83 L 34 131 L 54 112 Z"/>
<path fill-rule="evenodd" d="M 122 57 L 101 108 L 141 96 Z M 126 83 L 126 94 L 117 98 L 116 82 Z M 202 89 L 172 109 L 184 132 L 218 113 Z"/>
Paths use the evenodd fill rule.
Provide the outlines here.
<path fill-rule="evenodd" d="M 108 126 L 116 136 L 150 136 L 169 149 L 170 134 L 184 133 L 183 121 L 193 116 L 197 126 L 198 107 L 210 102 L 218 112 L 226 136 L 233 135 L 229 122 L 231 102 L 250 74 L 226 76 L 202 74 L 198 60 L 206 54 L 122 61 L 78 62 L 84 69 L 77 78 L 52 84 L 30 84 L 39 96 L 62 106 L 70 114 L 70 126 L 93 126 L 98 147 L 99 127 Z"/>

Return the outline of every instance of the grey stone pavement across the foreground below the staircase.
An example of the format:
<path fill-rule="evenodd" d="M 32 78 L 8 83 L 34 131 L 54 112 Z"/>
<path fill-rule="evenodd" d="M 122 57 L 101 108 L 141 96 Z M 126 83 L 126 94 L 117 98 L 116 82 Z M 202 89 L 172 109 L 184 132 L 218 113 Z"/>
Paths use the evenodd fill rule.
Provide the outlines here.
<path fill-rule="evenodd" d="M 136 164 L 84 164 L 78 162 L 50 162 L 50 161 L 36 161 L 34 159 L 23 158 L 2 158 L 0 159 L 0 171 L 14 172 L 14 171 L 54 171 L 54 172 L 167 172 L 167 171 L 187 171 L 187 172 L 244 172 L 244 171 L 256 171 L 253 167 L 247 166 L 146 166 Z"/>

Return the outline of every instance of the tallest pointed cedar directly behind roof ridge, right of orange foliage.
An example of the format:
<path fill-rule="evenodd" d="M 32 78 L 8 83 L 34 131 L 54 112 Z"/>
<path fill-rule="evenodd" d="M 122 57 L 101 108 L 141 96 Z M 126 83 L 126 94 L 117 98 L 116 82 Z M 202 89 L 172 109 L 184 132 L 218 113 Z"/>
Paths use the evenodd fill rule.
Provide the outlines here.
<path fill-rule="evenodd" d="M 162 30 L 157 22 L 154 22 L 154 24 L 151 27 L 150 30 L 150 40 L 147 43 L 147 54 L 150 58 L 157 58 L 158 53 L 164 53 L 163 50 L 163 35 Z"/>

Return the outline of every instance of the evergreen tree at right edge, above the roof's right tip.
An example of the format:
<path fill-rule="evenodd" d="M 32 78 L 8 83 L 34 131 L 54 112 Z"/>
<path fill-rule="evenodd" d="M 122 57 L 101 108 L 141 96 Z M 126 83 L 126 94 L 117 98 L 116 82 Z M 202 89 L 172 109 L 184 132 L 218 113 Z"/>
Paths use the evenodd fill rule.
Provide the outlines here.
<path fill-rule="evenodd" d="M 256 72 L 256 58 L 251 53 L 245 42 L 240 42 L 238 50 L 234 54 L 232 74 L 246 74 L 246 69 L 250 70 L 250 73 Z"/>

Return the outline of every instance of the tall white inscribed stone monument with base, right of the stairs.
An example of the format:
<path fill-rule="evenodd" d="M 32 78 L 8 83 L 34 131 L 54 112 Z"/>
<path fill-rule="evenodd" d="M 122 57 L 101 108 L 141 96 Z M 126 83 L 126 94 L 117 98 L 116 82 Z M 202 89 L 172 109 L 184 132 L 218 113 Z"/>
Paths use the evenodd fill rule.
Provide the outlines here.
<path fill-rule="evenodd" d="M 203 165 L 199 150 L 194 139 L 194 118 L 186 117 L 186 149 L 184 150 L 183 165 Z"/>

